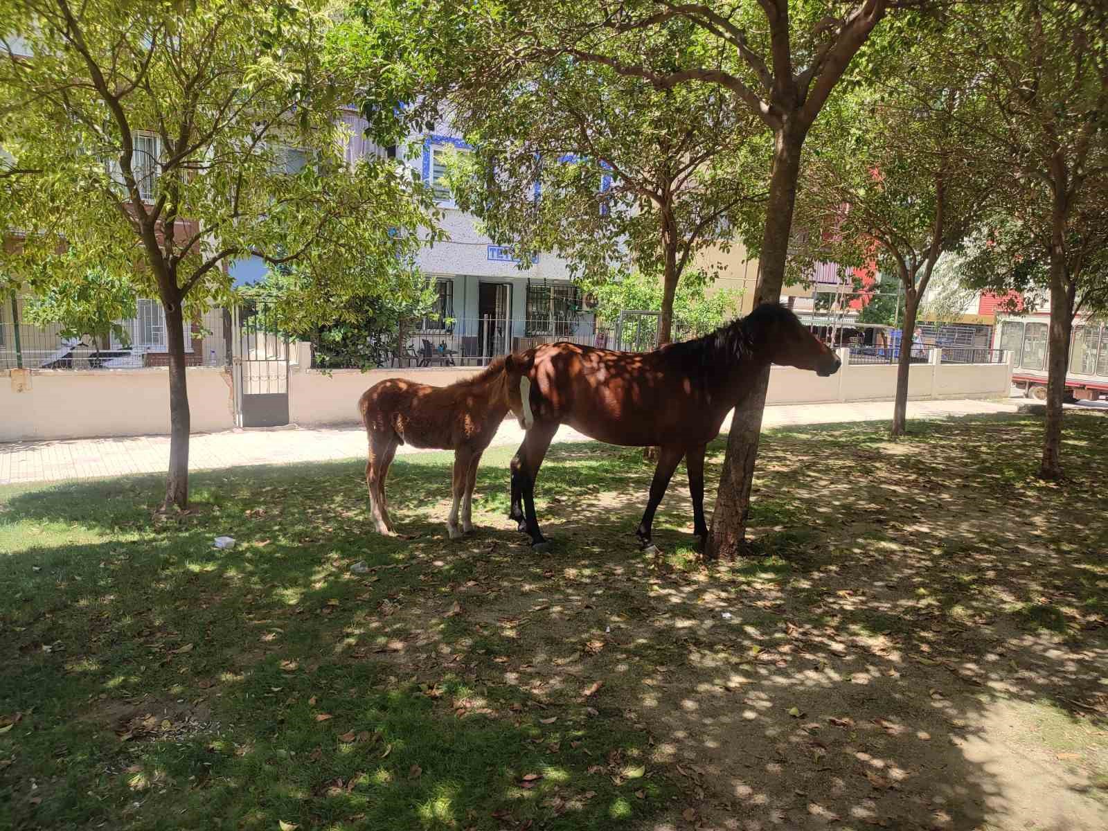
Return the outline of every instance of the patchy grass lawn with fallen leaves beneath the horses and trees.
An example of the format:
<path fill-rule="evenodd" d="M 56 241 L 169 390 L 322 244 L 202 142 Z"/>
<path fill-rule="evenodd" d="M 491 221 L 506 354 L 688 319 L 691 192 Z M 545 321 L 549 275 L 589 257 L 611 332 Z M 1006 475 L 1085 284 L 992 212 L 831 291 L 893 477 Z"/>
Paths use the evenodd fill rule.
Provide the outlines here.
<path fill-rule="evenodd" d="M 490 451 L 0 489 L 0 828 L 1104 829 L 1108 419 L 763 439 L 757 556 L 689 550 L 684 471 L 556 444 L 546 556 Z M 724 441 L 709 450 L 715 500 Z M 237 545 L 213 547 L 217 535 Z M 363 562 L 357 572 L 351 565 Z"/>

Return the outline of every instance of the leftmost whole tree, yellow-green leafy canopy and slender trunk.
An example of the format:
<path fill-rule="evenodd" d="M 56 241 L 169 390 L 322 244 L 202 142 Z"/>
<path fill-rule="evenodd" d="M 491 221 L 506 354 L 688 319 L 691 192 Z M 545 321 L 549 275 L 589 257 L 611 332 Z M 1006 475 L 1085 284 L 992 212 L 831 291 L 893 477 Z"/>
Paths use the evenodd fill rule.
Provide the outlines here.
<path fill-rule="evenodd" d="M 0 9 L 9 158 L 0 217 L 23 229 L 4 255 L 8 279 L 51 273 L 64 248 L 73 267 L 54 270 L 57 280 L 94 266 L 161 299 L 166 506 L 187 503 L 185 309 L 229 300 L 233 261 L 287 266 L 297 280 L 286 309 L 300 320 L 394 294 L 413 267 L 431 197 L 350 141 L 341 107 L 373 98 L 373 82 L 348 66 L 348 31 L 327 0 L 16 0 Z M 393 88 L 383 86 L 388 98 Z M 394 111 L 371 123 L 399 125 Z"/>

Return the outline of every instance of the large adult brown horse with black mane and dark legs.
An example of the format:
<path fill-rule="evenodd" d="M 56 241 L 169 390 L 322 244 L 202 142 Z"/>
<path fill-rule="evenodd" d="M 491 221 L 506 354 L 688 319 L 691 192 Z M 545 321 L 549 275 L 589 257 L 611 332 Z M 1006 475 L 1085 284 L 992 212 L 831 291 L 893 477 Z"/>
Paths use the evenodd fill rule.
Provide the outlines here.
<path fill-rule="evenodd" d="M 694 533 L 704 545 L 705 447 L 719 434 L 727 413 L 750 394 L 770 363 L 820 376 L 833 375 L 840 366 L 831 349 L 777 304 L 762 304 L 711 335 L 653 352 L 560 342 L 536 347 L 524 359 L 532 363 L 534 425 L 512 459 L 509 516 L 531 535 L 536 551 L 545 551 L 548 543 L 535 516 L 535 478 L 558 424 L 609 444 L 660 448 L 646 513 L 636 532 L 644 551 L 657 551 L 650 541 L 654 513 L 684 456 Z"/>

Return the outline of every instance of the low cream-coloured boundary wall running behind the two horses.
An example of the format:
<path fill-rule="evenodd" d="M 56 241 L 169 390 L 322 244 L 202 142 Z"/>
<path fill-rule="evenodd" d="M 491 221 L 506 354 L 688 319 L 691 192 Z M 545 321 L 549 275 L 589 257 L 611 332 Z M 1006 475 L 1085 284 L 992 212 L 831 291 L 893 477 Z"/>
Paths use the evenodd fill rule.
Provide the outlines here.
<path fill-rule="evenodd" d="M 442 387 L 480 368 L 378 369 L 330 373 L 305 369 L 307 345 L 289 371 L 289 419 L 301 427 L 358 423 L 358 399 L 386 378 L 403 377 Z M 820 378 L 790 367 L 770 372 L 767 403 L 773 406 L 843 401 L 888 401 L 896 389 L 895 366 L 851 366 Z M 934 361 L 936 352 L 932 350 Z M 235 424 L 233 382 L 223 369 L 187 370 L 193 432 L 228 430 Z M 29 388 L 22 388 L 29 380 Z M 911 368 L 909 398 L 995 398 L 1007 396 L 1008 363 L 917 363 Z M 164 435 L 170 430 L 170 383 L 164 369 L 29 370 L 0 372 L 0 441 L 107 435 Z"/>

